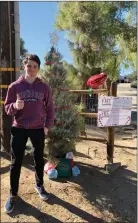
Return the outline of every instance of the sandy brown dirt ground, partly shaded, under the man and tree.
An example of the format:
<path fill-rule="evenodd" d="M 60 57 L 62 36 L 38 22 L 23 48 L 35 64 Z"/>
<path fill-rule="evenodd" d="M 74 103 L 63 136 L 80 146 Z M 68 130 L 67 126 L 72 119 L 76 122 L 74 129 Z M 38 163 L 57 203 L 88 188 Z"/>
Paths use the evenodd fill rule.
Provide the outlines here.
<path fill-rule="evenodd" d="M 1 222 L 130 222 L 136 223 L 136 139 L 115 141 L 114 162 L 122 167 L 108 174 L 106 145 L 83 141 L 77 144 L 75 163 L 78 177 L 51 181 L 44 175 L 48 202 L 34 190 L 32 158 L 24 159 L 19 197 L 12 214 L 4 213 L 9 194 L 10 159 L 1 152 Z M 89 152 L 88 152 L 89 151 Z"/>

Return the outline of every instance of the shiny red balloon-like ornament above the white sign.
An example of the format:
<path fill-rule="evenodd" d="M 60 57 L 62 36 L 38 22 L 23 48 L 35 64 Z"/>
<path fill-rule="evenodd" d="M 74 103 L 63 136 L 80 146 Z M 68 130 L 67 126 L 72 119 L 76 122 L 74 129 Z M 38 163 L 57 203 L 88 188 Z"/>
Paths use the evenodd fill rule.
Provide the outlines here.
<path fill-rule="evenodd" d="M 106 73 L 96 74 L 88 79 L 87 86 L 93 89 L 98 88 L 105 82 L 106 79 L 107 79 Z"/>

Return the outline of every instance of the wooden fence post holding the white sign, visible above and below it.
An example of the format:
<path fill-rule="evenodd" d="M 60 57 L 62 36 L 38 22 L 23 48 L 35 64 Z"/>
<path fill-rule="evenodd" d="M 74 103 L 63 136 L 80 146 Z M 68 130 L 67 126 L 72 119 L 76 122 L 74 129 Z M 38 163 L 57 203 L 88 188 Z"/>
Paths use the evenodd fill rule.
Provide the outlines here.
<path fill-rule="evenodd" d="M 110 89 L 109 96 L 117 96 L 117 82 L 108 81 L 107 87 Z M 108 163 L 113 163 L 114 153 L 114 127 L 107 127 L 107 160 Z"/>

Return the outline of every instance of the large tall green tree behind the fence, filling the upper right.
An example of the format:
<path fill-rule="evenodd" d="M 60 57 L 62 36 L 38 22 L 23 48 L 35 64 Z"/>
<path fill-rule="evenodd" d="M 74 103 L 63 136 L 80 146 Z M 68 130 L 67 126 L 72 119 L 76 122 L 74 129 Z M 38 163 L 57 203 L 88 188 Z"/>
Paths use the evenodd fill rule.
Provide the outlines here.
<path fill-rule="evenodd" d="M 132 8 L 136 9 L 135 2 L 59 3 L 55 25 L 68 33 L 74 66 L 82 73 L 83 83 L 95 74 L 95 68 L 117 79 L 124 60 L 118 39 L 126 43 L 136 36 L 136 27 L 125 18 Z"/>

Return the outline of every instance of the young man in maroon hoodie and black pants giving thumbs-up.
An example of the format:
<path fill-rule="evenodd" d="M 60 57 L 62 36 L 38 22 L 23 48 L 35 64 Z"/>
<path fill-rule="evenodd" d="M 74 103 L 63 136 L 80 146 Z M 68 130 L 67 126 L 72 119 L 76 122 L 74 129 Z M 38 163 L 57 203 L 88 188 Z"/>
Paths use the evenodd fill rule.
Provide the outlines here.
<path fill-rule="evenodd" d="M 5 100 L 5 111 L 7 115 L 13 116 L 10 196 L 5 205 L 7 213 L 11 213 L 15 206 L 21 165 L 28 138 L 34 148 L 35 190 L 42 199 L 48 199 L 48 194 L 43 187 L 43 151 L 45 135 L 54 123 L 52 93 L 47 84 L 37 77 L 40 69 L 39 57 L 30 54 L 25 58 L 23 64 L 25 76 L 19 77 L 9 86 Z"/>

